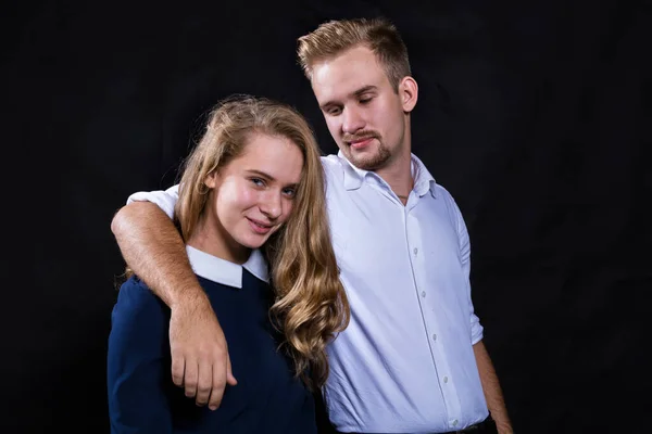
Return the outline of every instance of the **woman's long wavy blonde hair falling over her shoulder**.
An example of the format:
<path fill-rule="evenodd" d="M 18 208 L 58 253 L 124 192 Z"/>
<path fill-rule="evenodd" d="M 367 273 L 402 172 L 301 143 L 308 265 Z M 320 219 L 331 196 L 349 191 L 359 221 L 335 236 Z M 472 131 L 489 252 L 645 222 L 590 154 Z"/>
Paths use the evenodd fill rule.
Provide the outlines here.
<path fill-rule="evenodd" d="M 240 155 L 253 133 L 287 138 L 303 154 L 292 212 L 264 252 L 276 294 L 271 317 L 297 375 L 315 390 L 328 376 L 326 345 L 348 326 L 350 310 L 330 244 L 319 148 L 303 116 L 264 98 L 236 95 L 220 103 L 184 165 L 176 224 L 189 240 L 208 202 L 204 180 Z"/>

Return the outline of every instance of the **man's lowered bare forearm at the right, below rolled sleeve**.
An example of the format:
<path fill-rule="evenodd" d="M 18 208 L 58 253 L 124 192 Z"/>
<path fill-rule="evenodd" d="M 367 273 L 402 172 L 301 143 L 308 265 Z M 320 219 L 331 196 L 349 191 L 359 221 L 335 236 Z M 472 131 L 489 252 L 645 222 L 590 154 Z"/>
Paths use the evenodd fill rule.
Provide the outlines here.
<path fill-rule="evenodd" d="M 485 399 L 487 400 L 487 407 L 491 412 L 491 418 L 496 421 L 499 433 L 511 434 L 513 432 L 512 422 L 507 414 L 500 382 L 498 381 L 493 363 L 491 362 L 491 358 L 489 357 L 489 353 L 487 353 L 487 348 L 482 341 L 473 346 L 473 352 L 475 354 L 478 372 L 480 374 L 480 382 L 482 383 L 482 391 L 485 392 Z"/>

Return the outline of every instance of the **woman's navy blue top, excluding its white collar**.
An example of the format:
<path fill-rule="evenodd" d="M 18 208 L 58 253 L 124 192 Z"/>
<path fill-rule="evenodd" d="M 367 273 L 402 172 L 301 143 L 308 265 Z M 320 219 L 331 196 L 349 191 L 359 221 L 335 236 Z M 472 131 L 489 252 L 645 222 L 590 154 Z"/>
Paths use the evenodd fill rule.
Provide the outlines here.
<path fill-rule="evenodd" d="M 273 292 L 242 270 L 242 288 L 198 276 L 226 335 L 238 384 L 221 407 L 197 407 L 172 382 L 170 308 L 138 278 L 125 282 L 112 314 L 108 386 L 111 432 L 316 433 L 312 395 L 277 350 L 269 322 Z"/>

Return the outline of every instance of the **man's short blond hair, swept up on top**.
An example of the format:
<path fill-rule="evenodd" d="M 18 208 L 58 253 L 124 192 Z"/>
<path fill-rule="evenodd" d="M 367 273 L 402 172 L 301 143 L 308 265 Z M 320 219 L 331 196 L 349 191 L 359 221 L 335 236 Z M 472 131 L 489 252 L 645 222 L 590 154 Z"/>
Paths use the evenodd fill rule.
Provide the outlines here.
<path fill-rule="evenodd" d="M 297 55 L 308 79 L 315 62 L 363 46 L 376 54 L 387 78 L 398 91 L 399 82 L 411 75 L 408 48 L 396 26 L 386 18 L 329 21 L 298 40 Z"/>

